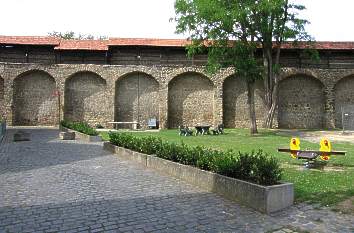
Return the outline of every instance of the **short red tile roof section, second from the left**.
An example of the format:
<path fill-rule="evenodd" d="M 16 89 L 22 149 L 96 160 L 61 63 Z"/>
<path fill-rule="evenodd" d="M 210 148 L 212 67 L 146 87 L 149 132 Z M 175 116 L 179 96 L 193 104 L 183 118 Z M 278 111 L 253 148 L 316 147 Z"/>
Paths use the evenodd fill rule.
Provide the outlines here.
<path fill-rule="evenodd" d="M 108 40 L 61 40 L 56 50 L 100 50 L 107 51 Z"/>

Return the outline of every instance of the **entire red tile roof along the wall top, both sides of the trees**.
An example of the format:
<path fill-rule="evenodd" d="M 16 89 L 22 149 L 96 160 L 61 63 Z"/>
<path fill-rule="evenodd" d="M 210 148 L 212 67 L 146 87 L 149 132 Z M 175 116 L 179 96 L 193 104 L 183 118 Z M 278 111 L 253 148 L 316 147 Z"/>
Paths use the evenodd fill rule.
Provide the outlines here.
<path fill-rule="evenodd" d="M 56 50 L 98 50 L 107 51 L 109 46 L 153 46 L 185 47 L 190 41 L 184 39 L 144 39 L 144 38 L 110 38 L 108 40 L 63 40 L 49 36 L 0 36 L 0 44 L 53 45 Z M 305 42 L 284 43 L 283 49 L 304 49 L 311 47 Z M 354 42 L 315 42 L 316 49 L 353 50 Z"/>

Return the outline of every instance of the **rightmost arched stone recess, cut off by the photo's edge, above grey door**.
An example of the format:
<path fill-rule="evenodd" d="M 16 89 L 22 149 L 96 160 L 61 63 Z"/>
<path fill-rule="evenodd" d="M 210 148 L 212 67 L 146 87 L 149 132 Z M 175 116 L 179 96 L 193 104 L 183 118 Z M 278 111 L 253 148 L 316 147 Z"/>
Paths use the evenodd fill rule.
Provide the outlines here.
<path fill-rule="evenodd" d="M 335 127 L 342 128 L 342 107 L 354 106 L 354 74 L 340 79 L 334 86 Z"/>

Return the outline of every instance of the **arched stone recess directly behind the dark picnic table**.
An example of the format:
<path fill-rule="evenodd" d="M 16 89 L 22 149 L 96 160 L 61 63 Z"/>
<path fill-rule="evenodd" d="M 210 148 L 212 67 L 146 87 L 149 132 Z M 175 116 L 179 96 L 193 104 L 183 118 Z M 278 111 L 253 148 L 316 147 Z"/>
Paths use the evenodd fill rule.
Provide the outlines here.
<path fill-rule="evenodd" d="M 168 84 L 168 126 L 213 124 L 214 85 L 200 73 L 183 73 Z"/>

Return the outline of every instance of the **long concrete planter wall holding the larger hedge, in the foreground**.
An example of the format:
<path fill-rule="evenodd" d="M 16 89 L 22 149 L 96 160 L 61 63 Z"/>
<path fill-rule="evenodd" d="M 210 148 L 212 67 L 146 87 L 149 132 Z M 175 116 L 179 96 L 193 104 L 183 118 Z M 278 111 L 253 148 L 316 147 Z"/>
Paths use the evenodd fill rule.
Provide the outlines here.
<path fill-rule="evenodd" d="M 117 154 L 123 159 L 136 161 L 143 166 L 153 168 L 196 185 L 204 190 L 215 192 L 227 199 L 240 202 L 262 213 L 272 213 L 291 206 L 294 202 L 294 185 L 282 183 L 279 185 L 262 186 L 243 180 L 238 180 L 195 167 L 161 159 L 104 143 L 104 149 Z"/>

